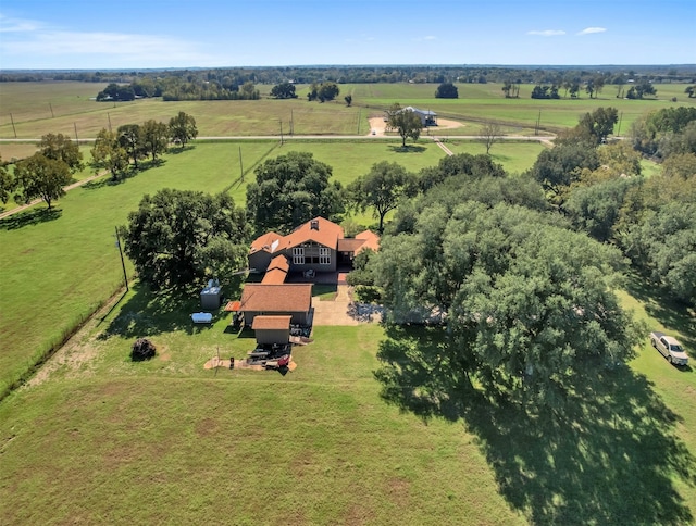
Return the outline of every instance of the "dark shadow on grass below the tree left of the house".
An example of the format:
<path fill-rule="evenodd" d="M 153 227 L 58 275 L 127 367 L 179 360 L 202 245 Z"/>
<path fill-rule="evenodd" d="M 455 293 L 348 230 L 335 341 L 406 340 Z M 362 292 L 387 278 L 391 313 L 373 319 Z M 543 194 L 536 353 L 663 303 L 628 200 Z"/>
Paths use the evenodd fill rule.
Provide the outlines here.
<path fill-rule="evenodd" d="M 219 309 L 212 313 L 210 324 L 195 324 L 191 313 L 200 312 L 200 290 L 159 290 L 157 293 L 141 283 L 133 287 L 135 295 L 120 309 L 115 318 L 99 335 L 144 338 L 163 333 L 183 330 L 189 335 L 210 330 L 226 313 Z"/>

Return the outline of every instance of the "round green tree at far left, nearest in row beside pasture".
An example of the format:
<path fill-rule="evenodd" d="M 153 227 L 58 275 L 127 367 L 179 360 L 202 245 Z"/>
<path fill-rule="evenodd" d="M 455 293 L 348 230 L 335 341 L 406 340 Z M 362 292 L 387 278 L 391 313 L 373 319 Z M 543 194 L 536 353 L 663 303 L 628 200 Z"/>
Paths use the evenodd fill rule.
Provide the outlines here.
<path fill-rule="evenodd" d="M 16 201 L 30 202 L 41 198 L 49 210 L 54 200 L 65 195 L 64 186 L 72 180 L 70 166 L 60 160 L 49 159 L 41 153 L 20 161 L 14 170 L 20 193 Z"/>

